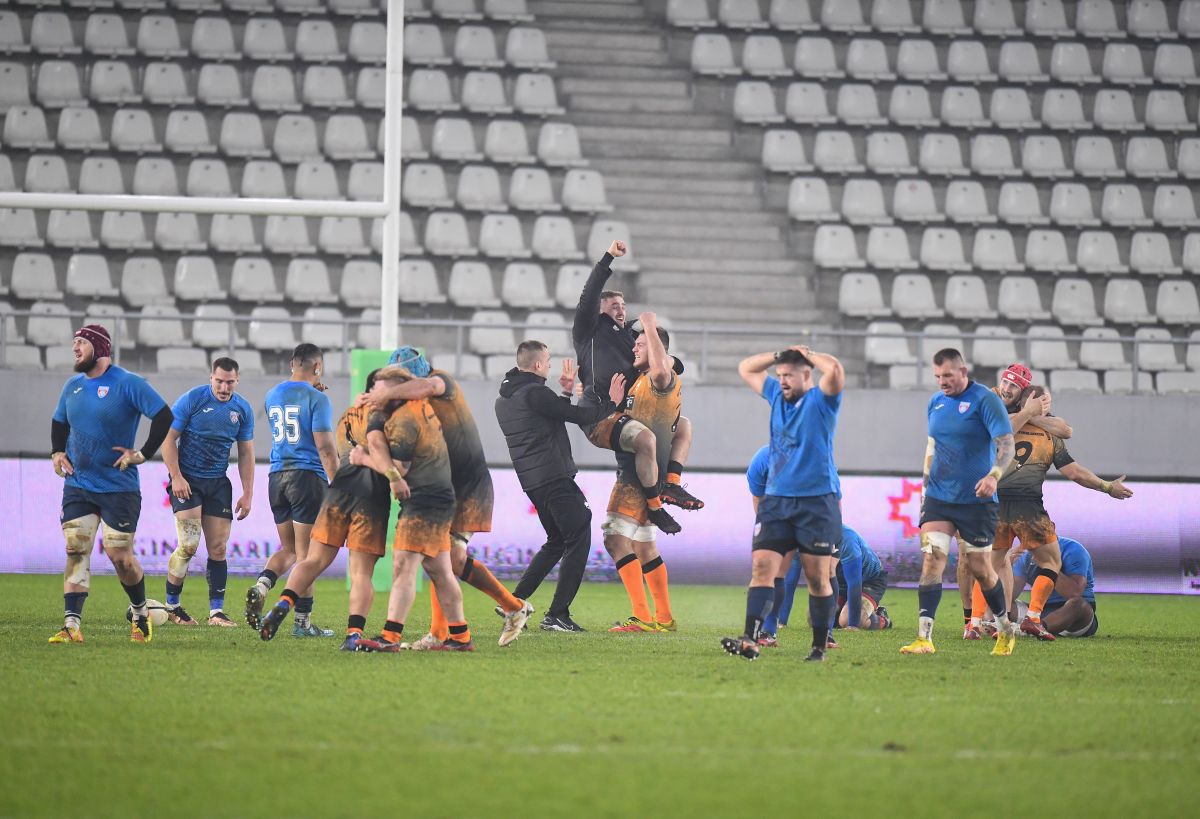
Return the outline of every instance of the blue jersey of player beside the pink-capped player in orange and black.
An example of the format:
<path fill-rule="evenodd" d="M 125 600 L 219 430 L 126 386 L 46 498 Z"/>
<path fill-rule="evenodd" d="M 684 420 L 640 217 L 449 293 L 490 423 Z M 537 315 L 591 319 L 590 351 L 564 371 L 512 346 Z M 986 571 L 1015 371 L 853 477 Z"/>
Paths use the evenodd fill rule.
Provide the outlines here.
<path fill-rule="evenodd" d="M 995 495 L 976 497 L 974 488 L 996 462 L 992 440 L 1013 434 L 1000 396 L 972 381 L 958 395 L 935 394 L 928 416 L 934 462 L 925 495 L 947 503 L 996 503 Z"/>

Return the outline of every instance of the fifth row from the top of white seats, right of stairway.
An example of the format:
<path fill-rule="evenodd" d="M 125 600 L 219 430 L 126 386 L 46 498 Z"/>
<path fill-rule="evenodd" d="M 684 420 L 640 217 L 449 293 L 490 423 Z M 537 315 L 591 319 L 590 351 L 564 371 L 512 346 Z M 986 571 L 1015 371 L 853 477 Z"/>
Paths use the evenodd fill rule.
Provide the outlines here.
<path fill-rule="evenodd" d="M 1187 185 L 1159 185 L 1153 193 L 1150 215 L 1136 185 L 1109 184 L 1093 207 L 1091 189 L 1082 183 L 1056 183 L 1050 190 L 1049 208 L 1043 213 L 1042 199 L 1033 183 L 1004 183 L 998 192 L 996 213 L 1013 225 L 1049 225 L 1066 227 L 1200 227 L 1192 189 Z M 890 204 L 888 202 L 890 201 Z M 793 177 L 788 187 L 787 210 L 792 219 L 805 222 L 851 225 L 890 225 L 901 222 L 959 221 L 995 222 L 983 186 L 979 183 L 952 183 L 946 192 L 944 211 L 934 198 L 934 186 L 925 179 L 896 179 L 890 197 L 884 196 L 877 179 L 850 179 L 842 187 L 840 211 L 835 210 L 829 185 L 822 177 Z"/>

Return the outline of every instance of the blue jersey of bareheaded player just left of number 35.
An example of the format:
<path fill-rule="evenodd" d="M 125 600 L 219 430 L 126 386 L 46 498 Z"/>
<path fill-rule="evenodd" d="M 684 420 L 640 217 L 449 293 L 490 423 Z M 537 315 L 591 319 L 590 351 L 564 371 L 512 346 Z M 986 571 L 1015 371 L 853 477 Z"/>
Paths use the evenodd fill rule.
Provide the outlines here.
<path fill-rule="evenodd" d="M 220 401 L 208 384 L 179 396 L 170 408 L 179 432 L 179 468 L 191 478 L 220 478 L 229 467 L 234 441 L 254 440 L 254 411 L 236 393 Z"/>

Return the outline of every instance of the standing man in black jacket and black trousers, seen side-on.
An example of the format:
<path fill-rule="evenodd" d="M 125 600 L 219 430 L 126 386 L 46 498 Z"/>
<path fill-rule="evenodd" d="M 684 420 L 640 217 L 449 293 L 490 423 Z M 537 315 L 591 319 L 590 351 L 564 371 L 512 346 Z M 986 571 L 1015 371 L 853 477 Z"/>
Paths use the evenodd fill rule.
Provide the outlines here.
<path fill-rule="evenodd" d="M 547 632 L 582 632 L 571 620 L 571 600 L 583 582 L 592 550 L 592 509 L 575 483 L 575 459 L 566 423 L 588 426 L 612 414 L 625 396 L 625 376 L 613 375 L 602 402 L 574 406 L 575 376 L 570 359 L 558 379 L 562 395 L 546 387 L 550 349 L 540 341 L 522 341 L 517 365 L 509 370 L 496 399 L 496 418 L 509 446 L 521 489 L 533 502 L 546 530 L 546 543 L 534 555 L 514 592 L 528 600 L 562 560 L 558 588 L 541 627 Z"/>

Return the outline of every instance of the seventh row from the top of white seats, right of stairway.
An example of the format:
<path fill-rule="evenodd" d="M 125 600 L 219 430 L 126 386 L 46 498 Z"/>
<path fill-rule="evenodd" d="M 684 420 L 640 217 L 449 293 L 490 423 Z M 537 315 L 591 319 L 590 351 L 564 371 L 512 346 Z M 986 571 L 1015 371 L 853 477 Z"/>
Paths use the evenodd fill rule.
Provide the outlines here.
<path fill-rule="evenodd" d="M 943 305 L 938 305 L 934 283 L 923 273 L 902 273 L 892 281 L 892 298 L 886 303 L 883 288 L 874 273 L 851 273 L 841 277 L 838 309 L 845 316 L 878 318 L 941 318 L 949 315 L 964 319 L 994 319 L 997 315 L 1010 321 L 1054 318 L 1063 325 L 1090 325 L 1106 319 L 1115 324 L 1200 325 L 1200 300 L 1190 281 L 1171 280 L 1158 286 L 1156 311 L 1151 312 L 1146 292 L 1135 279 L 1112 279 L 1104 291 L 1103 315 L 1096 311 L 1096 297 L 1082 279 L 1055 282 L 1050 311 L 1042 306 L 1037 281 L 1028 276 L 1007 276 L 1000 283 L 996 309 L 988 298 L 984 280 L 974 275 L 950 276 L 946 282 Z M 1057 330 L 1061 335 L 1061 330 Z"/>

